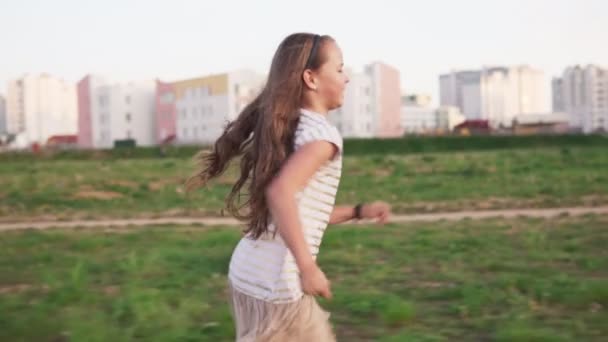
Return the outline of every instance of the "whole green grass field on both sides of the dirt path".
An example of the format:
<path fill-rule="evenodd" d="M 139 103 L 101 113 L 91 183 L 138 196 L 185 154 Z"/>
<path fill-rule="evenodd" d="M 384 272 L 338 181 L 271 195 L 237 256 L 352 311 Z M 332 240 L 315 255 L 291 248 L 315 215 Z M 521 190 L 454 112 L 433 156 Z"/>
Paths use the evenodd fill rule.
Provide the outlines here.
<path fill-rule="evenodd" d="M 608 204 L 601 136 L 347 141 L 338 204 L 394 212 Z M 216 216 L 194 148 L 0 155 L 0 222 Z M 603 341 L 608 216 L 332 226 L 319 262 L 340 341 Z M 0 234 L 0 341 L 233 341 L 238 227 Z"/>

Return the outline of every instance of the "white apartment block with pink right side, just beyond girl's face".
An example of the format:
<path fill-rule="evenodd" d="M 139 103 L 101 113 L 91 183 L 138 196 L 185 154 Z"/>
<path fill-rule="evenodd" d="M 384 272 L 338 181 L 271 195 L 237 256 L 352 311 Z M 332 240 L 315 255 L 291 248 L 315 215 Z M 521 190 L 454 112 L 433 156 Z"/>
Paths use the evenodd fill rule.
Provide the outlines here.
<path fill-rule="evenodd" d="M 348 70 L 344 103 L 330 113 L 330 120 L 344 137 L 398 137 L 400 123 L 399 70 L 375 62 L 364 71 Z"/>

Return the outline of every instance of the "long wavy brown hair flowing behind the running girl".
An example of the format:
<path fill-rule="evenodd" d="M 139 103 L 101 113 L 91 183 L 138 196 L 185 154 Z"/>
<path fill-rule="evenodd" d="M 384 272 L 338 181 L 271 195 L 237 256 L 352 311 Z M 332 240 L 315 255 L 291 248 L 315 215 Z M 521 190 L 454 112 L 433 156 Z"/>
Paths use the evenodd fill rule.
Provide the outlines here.
<path fill-rule="evenodd" d="M 233 158 L 241 156 L 240 177 L 226 198 L 226 208 L 247 222 L 245 233 L 254 239 L 264 234 L 270 223 L 265 189 L 293 152 L 304 92 L 302 75 L 306 69 L 316 70 L 323 65 L 323 47 L 328 41 L 333 38 L 310 33 L 285 38 L 272 58 L 261 93 L 226 125 L 210 152 L 198 155 L 201 170 L 187 181 L 189 190 L 202 187 L 223 174 Z M 245 184 L 248 193 L 241 203 Z"/>

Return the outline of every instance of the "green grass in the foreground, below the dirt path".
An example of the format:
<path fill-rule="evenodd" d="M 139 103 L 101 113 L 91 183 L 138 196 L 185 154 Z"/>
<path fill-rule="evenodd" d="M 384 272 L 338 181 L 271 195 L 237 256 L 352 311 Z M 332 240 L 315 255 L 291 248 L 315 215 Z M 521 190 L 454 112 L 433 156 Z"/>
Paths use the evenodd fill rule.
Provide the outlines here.
<path fill-rule="evenodd" d="M 344 341 L 601 341 L 608 217 L 330 227 Z M 232 227 L 0 234 L 2 341 L 231 341 Z"/>

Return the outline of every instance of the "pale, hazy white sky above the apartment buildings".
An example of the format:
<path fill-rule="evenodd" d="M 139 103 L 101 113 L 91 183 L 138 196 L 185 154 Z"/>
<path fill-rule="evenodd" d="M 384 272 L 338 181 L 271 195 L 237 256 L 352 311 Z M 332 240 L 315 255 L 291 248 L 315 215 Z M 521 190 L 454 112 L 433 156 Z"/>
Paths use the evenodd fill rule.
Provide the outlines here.
<path fill-rule="evenodd" d="M 527 64 L 550 78 L 608 67 L 605 0 L 0 0 L 0 94 L 25 73 L 70 82 L 266 73 L 293 32 L 333 36 L 355 71 L 382 61 L 403 93 L 438 97 L 451 70 Z"/>

